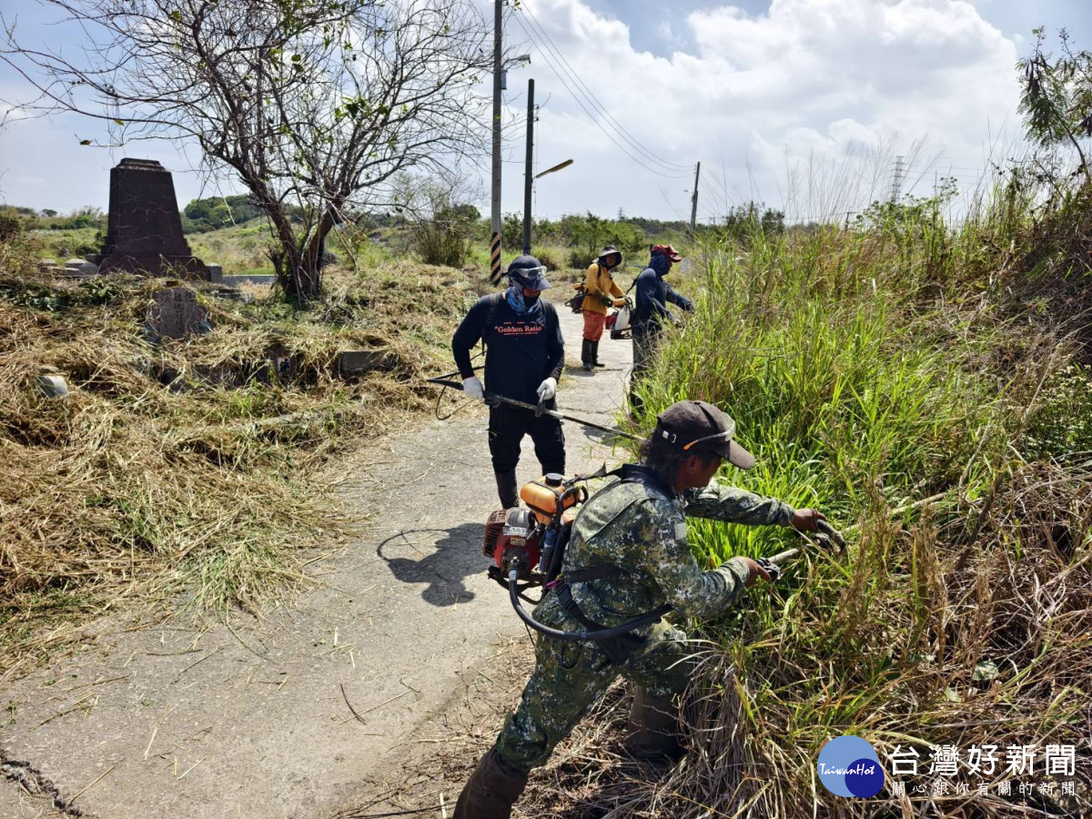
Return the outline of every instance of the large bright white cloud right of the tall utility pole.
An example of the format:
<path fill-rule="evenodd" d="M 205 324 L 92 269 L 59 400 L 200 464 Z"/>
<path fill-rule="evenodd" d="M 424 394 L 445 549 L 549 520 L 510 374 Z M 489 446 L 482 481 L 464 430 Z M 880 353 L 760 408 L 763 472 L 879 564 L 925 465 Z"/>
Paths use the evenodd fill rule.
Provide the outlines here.
<path fill-rule="evenodd" d="M 862 145 L 890 145 L 898 135 L 909 149 L 927 135 L 931 151 L 969 165 L 990 132 L 1006 119 L 1014 123 L 1017 46 L 964 0 L 772 0 L 758 16 L 724 4 L 691 13 L 692 52 L 669 57 L 636 50 L 625 23 L 582 0 L 530 7 L 643 145 L 682 166 L 702 159 L 717 178 L 723 158 L 737 200 L 757 189 L 783 204 L 786 154 L 790 163 L 809 154 L 842 161 Z M 509 32 L 510 39 L 521 34 L 515 24 Z M 692 179 L 662 179 L 622 155 L 544 57 L 535 56 L 538 93 L 553 99 L 542 115 L 539 155 L 547 163 L 566 153 L 577 164 L 539 185 L 538 212 L 688 213 L 684 189 Z M 513 194 L 506 210 L 517 209 L 515 187 L 506 181 Z"/>

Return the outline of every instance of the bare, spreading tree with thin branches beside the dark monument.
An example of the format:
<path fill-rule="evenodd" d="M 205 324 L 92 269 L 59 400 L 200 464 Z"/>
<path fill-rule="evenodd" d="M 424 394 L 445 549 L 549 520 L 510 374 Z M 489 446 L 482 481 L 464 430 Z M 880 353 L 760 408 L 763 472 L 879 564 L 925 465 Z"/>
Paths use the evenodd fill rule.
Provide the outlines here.
<path fill-rule="evenodd" d="M 43 0 L 86 32 L 82 56 L 22 44 L 0 59 L 35 105 L 106 120 L 121 144 L 195 140 L 270 219 L 285 292 L 321 289 L 346 211 L 390 201 L 410 168 L 482 149 L 487 27 L 473 0 Z"/>

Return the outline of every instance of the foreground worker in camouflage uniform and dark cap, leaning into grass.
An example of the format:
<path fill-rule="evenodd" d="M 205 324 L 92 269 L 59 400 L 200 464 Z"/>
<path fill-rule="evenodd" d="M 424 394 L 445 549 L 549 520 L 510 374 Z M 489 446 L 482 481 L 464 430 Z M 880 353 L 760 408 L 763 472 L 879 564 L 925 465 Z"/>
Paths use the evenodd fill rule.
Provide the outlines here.
<path fill-rule="evenodd" d="M 769 573 L 748 557 L 702 571 L 686 517 L 815 532 L 823 515 L 741 489 L 710 484 L 723 461 L 751 468 L 732 440 L 735 422 L 684 401 L 665 410 L 641 444 L 641 462 L 593 495 L 572 526 L 561 579 L 535 619 L 563 631 L 612 628 L 669 605 L 682 617 L 715 615 Z M 676 757 L 678 697 L 693 673 L 684 632 L 663 621 L 595 642 L 539 636 L 535 669 L 514 714 L 463 788 L 455 819 L 510 817 L 527 773 L 618 677 L 636 685 L 627 747 L 636 757 Z"/>

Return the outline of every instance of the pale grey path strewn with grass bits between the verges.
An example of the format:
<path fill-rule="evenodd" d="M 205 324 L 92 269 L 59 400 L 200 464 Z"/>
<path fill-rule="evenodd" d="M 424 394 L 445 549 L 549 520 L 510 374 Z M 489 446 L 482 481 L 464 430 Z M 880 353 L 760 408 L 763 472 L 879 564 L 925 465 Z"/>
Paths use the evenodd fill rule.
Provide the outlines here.
<path fill-rule="evenodd" d="M 581 321 L 560 313 L 572 364 Z M 605 340 L 601 358 L 606 370 L 570 372 L 558 400 L 612 424 L 629 344 Z M 610 460 L 597 434 L 567 424 L 566 438 L 570 472 Z M 538 474 L 529 443 L 521 480 Z M 343 501 L 372 524 L 311 566 L 323 585 L 293 608 L 211 628 L 111 618 L 9 686 L 0 816 L 62 816 L 56 803 L 100 818 L 327 817 L 473 697 L 476 669 L 523 633 L 484 572 L 497 503 L 484 415 L 427 422 L 358 461 Z"/>

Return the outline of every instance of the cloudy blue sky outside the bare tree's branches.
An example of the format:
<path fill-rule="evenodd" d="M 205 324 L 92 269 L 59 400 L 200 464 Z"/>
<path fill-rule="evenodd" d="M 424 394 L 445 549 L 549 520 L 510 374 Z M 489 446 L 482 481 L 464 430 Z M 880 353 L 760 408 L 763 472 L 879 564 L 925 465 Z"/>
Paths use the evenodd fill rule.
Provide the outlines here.
<path fill-rule="evenodd" d="M 1092 47 L 1085 0 L 523 2 L 506 36 L 532 54 L 532 64 L 511 72 L 506 103 L 513 118 L 522 116 L 526 78 L 535 78 L 544 104 L 537 167 L 574 159 L 537 183 L 536 213 L 546 216 L 619 209 L 686 216 L 697 161 L 703 218 L 749 199 L 799 218 L 852 210 L 887 191 L 900 155 L 911 159 L 904 187 L 916 185 L 915 192 L 949 174 L 972 187 L 987 157 L 1009 151 L 1019 133 L 1013 64 L 1031 28 L 1065 25 L 1078 45 Z M 73 33 L 47 26 L 51 15 L 36 4 L 0 0 L 4 17 L 16 11 L 25 36 L 76 45 Z M 542 32 L 626 135 L 587 116 L 578 97 L 594 104 L 573 88 Z M 0 98 L 17 103 L 28 94 L 0 66 Z M 503 203 L 517 211 L 522 134 L 509 128 L 506 135 Z M 238 190 L 230 178 L 209 183 L 193 173 L 199 157 L 178 142 L 79 145 L 103 138 L 96 123 L 74 116 L 10 123 L 0 132 L 0 200 L 62 212 L 105 207 L 108 170 L 122 156 L 163 162 L 182 203 Z"/>

